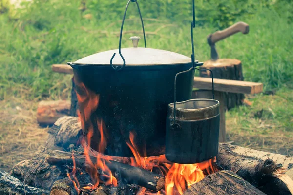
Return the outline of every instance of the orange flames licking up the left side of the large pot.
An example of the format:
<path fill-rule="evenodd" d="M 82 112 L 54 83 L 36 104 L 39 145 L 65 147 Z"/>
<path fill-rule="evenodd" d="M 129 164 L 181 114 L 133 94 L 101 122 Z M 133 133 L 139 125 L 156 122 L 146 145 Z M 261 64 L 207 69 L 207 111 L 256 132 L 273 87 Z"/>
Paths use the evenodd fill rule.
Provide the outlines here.
<path fill-rule="evenodd" d="M 86 139 L 83 139 L 82 146 L 84 147 L 84 155 L 85 155 L 85 162 L 87 164 L 87 173 L 90 174 L 92 180 L 95 182 L 93 186 L 90 186 L 91 189 L 96 189 L 99 183 L 104 183 L 105 185 L 112 185 L 117 186 L 117 179 L 112 175 L 111 170 L 105 164 L 105 159 L 96 158 L 95 161 L 89 155 L 90 151 L 90 140 L 94 134 L 94 124 L 91 121 L 91 116 L 93 115 L 94 111 L 98 108 L 99 105 L 99 95 L 92 92 L 91 90 L 87 89 L 84 83 L 76 83 L 77 87 L 79 88 L 79 93 L 77 94 L 77 99 L 80 105 L 80 121 L 82 124 L 82 128 L 87 130 Z M 96 121 L 97 127 L 100 133 L 100 142 L 98 146 L 98 152 L 103 153 L 107 146 L 106 138 L 105 138 L 105 131 L 103 128 L 104 124 L 103 121 Z M 84 137 L 85 138 L 85 137 Z M 86 144 L 85 144 L 86 143 Z M 74 162 L 74 168 L 71 172 L 72 175 L 75 174 L 75 161 L 74 156 L 72 158 Z M 77 183 L 78 181 L 73 183 Z M 79 185 L 78 185 L 79 187 Z M 76 188 L 79 192 L 79 189 Z"/>

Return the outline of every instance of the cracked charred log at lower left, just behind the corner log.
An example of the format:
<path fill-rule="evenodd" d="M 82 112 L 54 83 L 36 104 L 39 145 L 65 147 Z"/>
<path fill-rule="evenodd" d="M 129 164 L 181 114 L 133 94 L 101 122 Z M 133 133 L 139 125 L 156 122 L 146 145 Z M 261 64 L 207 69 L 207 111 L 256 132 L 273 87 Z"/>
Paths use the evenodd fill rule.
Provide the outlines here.
<path fill-rule="evenodd" d="M 9 172 L 29 186 L 50 190 L 56 180 L 66 177 L 65 168 L 52 166 L 45 160 L 45 155 L 39 159 L 32 158 L 16 164 Z"/>

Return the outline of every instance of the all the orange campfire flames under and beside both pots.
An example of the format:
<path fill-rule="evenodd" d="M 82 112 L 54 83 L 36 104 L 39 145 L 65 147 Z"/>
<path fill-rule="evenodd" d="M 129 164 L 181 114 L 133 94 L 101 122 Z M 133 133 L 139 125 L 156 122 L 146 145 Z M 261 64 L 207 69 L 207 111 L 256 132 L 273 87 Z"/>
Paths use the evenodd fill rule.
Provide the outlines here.
<path fill-rule="evenodd" d="M 91 115 L 98 108 L 99 105 L 99 95 L 96 95 L 94 92 L 90 91 L 84 86 L 84 83 L 76 83 L 79 87 L 79 93 L 77 93 L 78 102 L 80 105 L 79 115 L 82 128 L 87 129 L 88 133 L 86 139 L 81 141 L 82 146 L 84 147 L 84 155 L 86 156 L 86 164 L 88 165 L 87 172 L 90 174 L 95 184 L 89 186 L 88 188 L 94 190 L 99 184 L 104 184 L 106 186 L 117 186 L 118 182 L 109 167 L 105 164 L 105 160 L 114 160 L 111 156 L 103 155 L 105 148 L 107 146 L 106 139 L 106 129 L 105 124 L 102 120 L 96 118 L 96 121 L 93 120 Z M 96 123 L 96 124 L 94 124 Z M 97 155 L 95 155 L 96 161 L 92 161 L 93 153 L 90 148 L 90 140 L 94 134 L 94 127 L 97 127 L 100 133 L 100 143 L 97 149 Z M 177 164 L 168 161 L 165 155 L 160 156 L 150 156 L 142 157 L 139 153 L 138 147 L 135 144 L 135 133 L 130 132 L 129 141 L 126 141 L 126 144 L 133 153 L 134 158 L 123 158 L 123 163 L 140 167 L 149 171 L 153 171 L 154 167 L 157 167 L 161 174 L 165 176 L 165 193 L 166 195 L 182 195 L 188 187 L 192 184 L 201 181 L 205 175 L 202 170 L 207 170 L 207 173 L 213 173 L 214 170 L 212 162 L 215 159 L 210 159 L 208 161 L 197 163 L 197 164 Z M 90 156 L 91 155 L 91 156 Z M 146 156 L 146 155 L 144 155 Z M 74 161 L 74 156 L 73 156 Z M 73 170 L 68 177 L 73 176 L 76 173 L 76 166 L 74 163 Z M 76 179 L 76 177 L 74 177 Z M 71 179 L 71 178 L 70 178 Z M 77 192 L 79 193 L 80 186 L 76 180 L 72 180 Z M 140 195 L 145 194 L 146 189 L 142 188 L 139 192 Z M 157 194 L 161 194 L 158 192 Z"/>

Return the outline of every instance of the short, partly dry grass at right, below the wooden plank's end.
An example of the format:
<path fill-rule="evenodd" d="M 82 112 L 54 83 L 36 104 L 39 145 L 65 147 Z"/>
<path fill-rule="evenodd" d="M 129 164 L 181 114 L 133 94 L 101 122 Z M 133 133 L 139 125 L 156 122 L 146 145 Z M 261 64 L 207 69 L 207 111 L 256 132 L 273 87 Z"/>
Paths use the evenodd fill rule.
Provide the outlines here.
<path fill-rule="evenodd" d="M 249 99 L 252 106 L 240 106 L 226 113 L 230 140 L 237 145 L 292 155 L 292 88 L 281 88 L 275 95 L 260 94 Z"/>

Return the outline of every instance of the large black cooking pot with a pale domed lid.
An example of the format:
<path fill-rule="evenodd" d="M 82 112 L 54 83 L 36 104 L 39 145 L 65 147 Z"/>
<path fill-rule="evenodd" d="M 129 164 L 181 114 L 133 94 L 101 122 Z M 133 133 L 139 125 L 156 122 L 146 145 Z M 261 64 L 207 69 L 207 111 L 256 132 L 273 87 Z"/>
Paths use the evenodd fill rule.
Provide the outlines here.
<path fill-rule="evenodd" d="M 191 59 L 165 50 L 140 48 L 137 37 L 132 48 L 121 49 L 121 58 L 110 59 L 118 50 L 97 53 L 68 64 L 73 68 L 79 98 L 80 114 L 84 118 L 83 133 L 93 129 L 90 146 L 113 156 L 131 157 L 127 146 L 129 133 L 142 156 L 165 152 L 166 116 L 168 104 L 174 101 L 174 78 L 192 67 Z M 196 61 L 197 63 L 198 61 Z M 117 71 L 115 67 L 122 68 Z M 177 100 L 191 98 L 194 71 L 177 78 Z M 84 102 L 99 95 L 99 105 Z M 88 100 L 87 100 L 88 101 Z M 92 110 L 92 112 L 89 112 Z M 99 148 L 101 134 L 98 124 L 103 120 L 107 147 Z M 100 128 L 101 129 L 101 128 Z"/>

